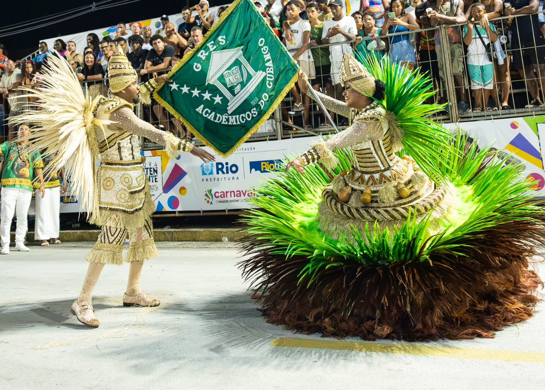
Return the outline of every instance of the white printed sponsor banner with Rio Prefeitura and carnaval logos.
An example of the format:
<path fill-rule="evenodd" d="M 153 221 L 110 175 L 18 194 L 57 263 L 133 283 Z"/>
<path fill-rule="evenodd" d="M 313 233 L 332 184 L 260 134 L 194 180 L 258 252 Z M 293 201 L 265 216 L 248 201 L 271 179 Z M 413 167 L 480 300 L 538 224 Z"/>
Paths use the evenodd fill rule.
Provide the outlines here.
<path fill-rule="evenodd" d="M 536 196 L 545 196 L 545 172 L 540 140 L 545 140 L 545 116 L 458 123 L 479 139 L 481 147 L 493 146 L 513 153 L 526 165 L 524 177 L 535 181 Z M 454 125 L 446 125 L 453 127 Z M 539 137 L 538 137 L 539 127 Z M 284 156 L 298 155 L 316 137 L 246 143 L 232 156 L 202 163 L 189 153 L 170 159 L 164 151 L 144 151 L 157 212 L 220 211 L 250 207 L 253 188 L 275 177 Z M 60 211 L 79 211 L 70 195 L 61 196 Z M 31 208 L 33 213 L 34 208 Z"/>

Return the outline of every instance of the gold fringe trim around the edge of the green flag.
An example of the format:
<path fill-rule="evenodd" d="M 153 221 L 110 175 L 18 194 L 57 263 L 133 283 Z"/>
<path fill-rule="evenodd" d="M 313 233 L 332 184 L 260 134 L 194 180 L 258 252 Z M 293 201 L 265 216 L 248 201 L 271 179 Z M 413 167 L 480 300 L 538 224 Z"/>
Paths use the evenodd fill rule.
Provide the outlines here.
<path fill-rule="evenodd" d="M 184 66 L 187 61 L 189 61 L 191 59 L 191 57 L 193 57 L 193 55 L 196 55 L 196 53 L 201 49 L 202 46 L 204 46 L 207 41 L 208 41 L 208 37 L 213 34 L 215 32 L 215 30 L 221 26 L 221 24 L 223 23 L 223 21 L 225 21 L 225 19 L 227 18 L 227 16 L 229 16 L 233 10 L 235 9 L 235 7 L 237 7 L 237 5 L 241 2 L 242 0 L 235 0 L 231 5 L 229 5 L 229 7 L 223 11 L 223 13 L 221 14 L 221 17 L 216 21 L 214 22 L 214 24 L 212 25 L 212 27 L 208 30 L 208 32 L 204 35 L 204 38 L 203 40 L 193 49 L 191 50 L 189 53 L 187 53 L 186 55 L 184 55 L 184 57 L 180 60 L 180 62 L 174 66 L 172 68 L 172 70 L 170 72 L 168 72 L 168 75 L 167 75 L 167 78 L 171 78 L 174 73 L 176 73 L 178 71 L 178 69 L 180 69 L 180 67 Z M 259 17 L 261 18 L 261 20 L 263 21 L 263 23 L 265 24 L 265 26 L 268 26 L 267 23 L 265 23 L 265 18 L 262 17 L 261 14 L 259 14 L 259 12 L 257 11 L 257 8 L 254 8 L 253 9 L 254 12 L 256 12 Z M 271 28 L 268 28 L 268 33 L 271 34 L 272 36 L 274 36 L 274 38 L 278 38 L 276 36 L 276 34 L 272 31 Z M 286 46 L 283 46 L 281 45 L 281 49 L 284 51 L 284 53 L 286 53 L 286 55 L 289 57 L 289 58 L 292 58 L 291 55 L 289 54 Z M 295 65 L 295 61 L 292 59 L 292 63 Z M 299 69 L 299 66 L 296 65 L 296 69 Z M 159 104 L 161 104 L 161 106 L 165 107 L 167 109 L 167 111 L 169 113 L 171 113 L 173 116 L 177 117 L 182 123 L 184 123 L 184 125 L 190 130 L 191 133 L 195 134 L 196 137 L 201 140 L 201 142 L 210 147 L 214 152 L 216 152 L 220 157 L 229 157 L 231 156 L 231 154 L 233 154 L 235 152 L 235 150 L 237 150 L 240 145 L 244 144 L 253 134 L 255 134 L 257 132 L 257 130 L 259 129 L 259 127 L 261 127 L 261 125 L 263 125 L 263 123 L 269 119 L 269 117 L 272 115 L 272 113 L 274 112 L 274 110 L 276 109 L 276 107 L 278 106 L 278 104 L 280 104 L 280 102 L 282 102 L 284 96 L 286 96 L 289 92 L 290 89 L 293 88 L 293 86 L 295 85 L 295 83 L 297 82 L 297 78 L 298 78 L 298 72 L 295 72 L 295 75 L 292 77 L 291 81 L 286 85 L 286 88 L 284 88 L 282 90 L 282 92 L 280 92 L 280 95 L 278 95 L 278 97 L 276 98 L 276 100 L 274 102 L 272 102 L 271 106 L 269 107 L 269 109 L 267 110 L 267 112 L 265 112 L 263 114 L 263 116 L 261 117 L 261 119 L 256 123 L 256 125 L 254 125 L 238 142 L 237 144 L 235 144 L 231 149 L 229 149 L 227 152 L 223 153 L 219 150 L 217 150 L 217 148 L 212 145 L 210 143 L 210 141 L 208 141 L 206 138 L 203 137 L 203 135 L 195 128 L 191 125 L 191 123 L 189 121 L 187 121 L 183 116 L 181 116 L 180 113 L 178 113 L 170 104 L 168 104 L 167 102 L 165 102 L 161 96 L 159 96 L 159 91 L 164 88 L 164 86 L 166 85 L 166 83 L 163 83 L 161 85 L 159 85 L 158 88 L 155 89 L 155 91 L 153 92 L 153 97 L 155 98 L 155 100 L 157 102 L 159 102 Z"/>

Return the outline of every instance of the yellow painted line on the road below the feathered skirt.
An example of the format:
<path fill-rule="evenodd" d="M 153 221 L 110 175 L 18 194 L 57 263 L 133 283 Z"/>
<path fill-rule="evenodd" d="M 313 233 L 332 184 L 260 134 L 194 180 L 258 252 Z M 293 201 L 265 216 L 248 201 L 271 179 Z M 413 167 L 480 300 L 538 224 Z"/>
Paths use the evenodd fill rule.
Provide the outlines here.
<path fill-rule="evenodd" d="M 496 360 L 502 362 L 545 363 L 545 354 L 526 351 L 502 351 L 475 348 L 450 348 L 422 344 L 372 343 L 302 338 L 277 338 L 272 346 L 314 348 L 336 351 L 376 352 L 379 354 L 454 357 L 458 359 Z"/>

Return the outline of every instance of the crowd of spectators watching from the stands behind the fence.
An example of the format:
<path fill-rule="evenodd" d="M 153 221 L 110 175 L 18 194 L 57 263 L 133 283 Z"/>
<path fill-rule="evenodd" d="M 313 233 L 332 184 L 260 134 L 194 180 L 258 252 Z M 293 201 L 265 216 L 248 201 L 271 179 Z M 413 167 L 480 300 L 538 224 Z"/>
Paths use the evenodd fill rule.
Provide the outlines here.
<path fill-rule="evenodd" d="M 459 113 L 514 107 L 512 71 L 525 83 L 526 107 L 543 106 L 545 17 L 537 13 L 543 9 L 538 0 L 361 0 L 360 9 L 352 15 L 347 15 L 344 0 L 263 0 L 254 4 L 307 73 L 313 88 L 330 96 L 342 98 L 340 70 L 347 53 L 362 63 L 370 57 L 388 56 L 410 69 L 420 67 L 437 91 L 433 100 L 447 101 L 446 85 L 453 87 Z M 0 116 L 7 115 L 6 106 L 9 115 L 20 112 L 23 102 L 17 88 L 39 84 L 47 53 L 69 61 L 82 88 L 95 97 L 106 92 L 108 59 L 118 46 L 146 80 L 171 69 L 195 48 L 225 9 L 211 13 L 209 2 L 201 0 L 181 9 L 183 22 L 178 26 L 162 15 L 155 31 L 140 22 L 122 21 L 114 34 L 102 38 L 88 34 L 82 49 L 74 41 L 57 39 L 52 48 L 40 42 L 39 52 L 26 61 L 9 59 L 0 44 L 4 100 Z M 294 113 L 303 112 L 305 129 L 331 125 L 325 113 L 322 123 L 314 123 L 311 101 L 296 86 L 291 96 L 292 103 L 282 108 L 285 121 L 291 123 Z M 148 114 L 158 126 L 185 135 L 181 123 L 169 119 L 161 106 L 152 106 Z"/>

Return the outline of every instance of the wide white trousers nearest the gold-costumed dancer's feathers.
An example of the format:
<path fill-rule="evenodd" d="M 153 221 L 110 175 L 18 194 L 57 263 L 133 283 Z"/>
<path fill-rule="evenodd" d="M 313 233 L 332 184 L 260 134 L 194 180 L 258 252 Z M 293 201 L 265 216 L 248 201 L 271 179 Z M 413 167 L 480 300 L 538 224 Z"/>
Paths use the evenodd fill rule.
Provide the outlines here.
<path fill-rule="evenodd" d="M 49 240 L 59 237 L 60 187 L 46 188 L 44 197 L 39 191 L 36 196 L 35 240 Z"/>

